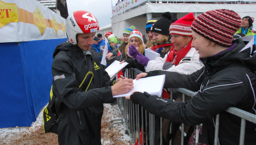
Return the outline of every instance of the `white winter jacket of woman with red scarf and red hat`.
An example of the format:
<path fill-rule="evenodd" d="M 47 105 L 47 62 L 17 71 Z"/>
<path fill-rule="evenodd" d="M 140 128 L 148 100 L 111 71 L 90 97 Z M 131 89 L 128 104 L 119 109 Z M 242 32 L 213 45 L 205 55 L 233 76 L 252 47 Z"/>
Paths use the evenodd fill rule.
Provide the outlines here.
<path fill-rule="evenodd" d="M 166 59 L 169 53 L 170 52 L 168 52 L 164 58 L 156 57 L 155 60 L 148 61 L 146 72 L 163 70 L 163 65 L 166 63 Z M 174 65 L 166 71 L 177 72 L 180 74 L 191 74 L 201 69 L 203 66 L 204 64 L 199 61 L 199 53 L 197 53 L 196 49 L 192 47 L 188 51 L 187 55 L 185 55 L 185 57 L 180 60 L 179 65 Z"/>

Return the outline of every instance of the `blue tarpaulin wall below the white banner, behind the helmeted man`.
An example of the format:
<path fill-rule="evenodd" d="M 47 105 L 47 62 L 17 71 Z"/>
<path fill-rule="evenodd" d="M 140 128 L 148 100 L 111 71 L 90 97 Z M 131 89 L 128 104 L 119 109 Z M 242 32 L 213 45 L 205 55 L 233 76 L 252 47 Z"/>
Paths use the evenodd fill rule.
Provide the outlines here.
<path fill-rule="evenodd" d="M 49 100 L 53 51 L 66 40 L 0 43 L 0 128 L 36 120 Z"/>

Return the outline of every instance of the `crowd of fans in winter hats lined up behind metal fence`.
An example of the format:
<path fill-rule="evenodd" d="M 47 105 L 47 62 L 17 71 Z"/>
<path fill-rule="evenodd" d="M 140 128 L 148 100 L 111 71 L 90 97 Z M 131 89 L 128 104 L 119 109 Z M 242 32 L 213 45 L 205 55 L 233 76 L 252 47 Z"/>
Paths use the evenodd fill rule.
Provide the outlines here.
<path fill-rule="evenodd" d="M 238 53 L 237 51 L 241 50 L 246 44 L 241 38 L 248 35 L 256 35 L 252 29 L 253 22 L 253 17 L 244 16 L 241 19 L 238 14 L 229 10 L 208 11 L 197 18 L 195 18 L 193 13 L 189 13 L 180 19 L 176 19 L 172 17 L 171 13 L 166 12 L 162 14 L 160 19 L 152 18 L 148 20 L 145 26 L 148 36 L 147 40 L 145 40 L 140 32 L 144 30 L 136 30 L 134 26 L 126 28 L 123 31 L 123 38 L 120 39 L 112 32 L 106 32 L 105 37 L 108 39 L 110 48 L 109 53 L 106 55 L 107 64 L 110 65 L 115 60 L 120 61 L 120 63 L 126 61 L 129 65 L 125 68 L 137 68 L 146 72 L 139 74 L 138 78 L 166 74 L 166 79 L 169 80 L 166 81 L 165 86 L 169 86 L 168 88 L 181 87 L 195 91 L 199 90 L 199 93 L 193 99 L 186 96 L 185 100 L 188 102 L 184 103 L 182 103 L 182 94 L 179 92 L 174 92 L 174 101 L 169 100 L 168 103 L 161 102 L 154 103 L 154 105 L 152 102 L 157 97 L 148 97 L 148 94 L 145 93 L 136 92 L 132 96 L 127 97 L 133 103 L 143 106 L 150 113 L 172 121 L 175 133 L 172 133 L 171 136 L 174 144 L 180 144 L 180 139 L 175 138 L 176 132 L 179 132 L 180 123 L 188 125 L 185 126 L 185 130 L 186 127 L 188 130 L 189 127 L 203 123 L 200 129 L 204 125 L 209 132 L 203 131 L 201 136 L 207 136 L 208 141 L 205 142 L 206 144 L 213 144 L 214 115 L 219 113 L 221 113 L 222 117 L 220 121 L 219 142 L 220 144 L 233 144 L 234 141 L 239 139 L 239 137 L 236 137 L 237 139 L 232 140 L 234 136 L 239 135 L 241 121 L 237 117 L 225 113 L 224 110 L 228 107 L 236 106 L 250 113 L 256 113 L 254 94 L 256 82 L 253 74 L 255 69 L 251 69 L 251 66 L 246 64 L 248 61 L 243 61 L 243 59 L 248 58 L 235 58 L 236 53 Z M 97 35 L 95 41 L 98 41 L 98 44 L 93 43 L 92 47 L 98 53 L 98 48 L 104 47 L 105 41 L 102 40 L 101 34 Z M 145 56 L 144 50 L 146 48 L 159 53 L 160 57 L 150 61 Z M 113 56 L 116 57 L 110 58 Z M 233 56 L 233 58 L 230 59 L 230 56 Z M 101 59 L 102 53 L 99 57 Z M 242 69 L 242 71 L 238 71 L 238 69 Z M 218 73 L 221 71 L 223 72 Z M 234 74 L 232 71 L 237 71 L 239 74 Z M 125 73 L 125 69 L 118 73 L 118 78 L 123 73 Z M 245 74 L 247 74 L 249 80 L 248 78 L 247 80 L 242 78 Z M 240 82 L 247 83 L 246 85 L 249 86 L 229 86 L 230 84 L 239 84 Z M 217 89 L 206 91 L 211 87 Z M 240 92 L 234 91 L 238 88 Z M 228 97 L 226 97 L 227 95 Z M 221 97 L 224 96 L 227 99 L 221 101 Z M 164 89 L 163 98 L 169 97 L 170 90 Z M 151 102 L 146 101 L 149 98 L 151 98 Z M 221 103 L 218 103 L 218 101 Z M 199 103 L 202 104 L 199 105 Z M 176 108 L 166 106 L 168 104 L 172 104 Z M 166 106 L 167 110 L 158 110 L 157 108 L 161 105 Z M 205 114 L 203 110 L 207 110 L 208 114 Z M 167 113 L 166 111 L 170 112 Z M 209 117 L 213 118 L 209 119 Z M 225 119 L 227 120 L 224 121 Z M 160 122 L 156 121 L 156 126 L 159 125 Z M 234 135 L 233 137 L 232 135 L 225 135 L 229 134 L 225 130 L 230 130 L 230 128 L 225 126 L 233 128 L 232 130 L 237 135 L 232 134 Z M 245 137 L 246 144 L 255 143 L 255 138 L 251 136 L 256 135 L 255 127 L 255 125 L 250 123 L 248 127 L 246 126 L 246 136 L 250 136 Z M 155 136 L 158 136 L 155 138 L 155 144 L 160 142 L 160 136 L 157 134 L 159 131 L 157 130 L 160 131 L 160 128 L 156 127 L 155 130 Z M 164 137 L 166 139 L 166 136 Z"/>

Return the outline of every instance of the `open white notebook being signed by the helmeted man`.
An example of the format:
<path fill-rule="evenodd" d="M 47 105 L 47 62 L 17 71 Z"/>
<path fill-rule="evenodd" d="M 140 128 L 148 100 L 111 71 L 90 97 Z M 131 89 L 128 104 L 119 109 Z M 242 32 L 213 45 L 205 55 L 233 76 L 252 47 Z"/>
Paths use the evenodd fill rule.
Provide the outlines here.
<path fill-rule="evenodd" d="M 115 98 L 115 97 L 130 96 L 131 93 L 133 93 L 135 90 L 142 93 L 147 92 L 148 94 L 161 97 L 165 80 L 166 80 L 165 74 L 160 76 L 139 78 L 139 80 L 133 80 L 134 88 L 131 89 L 129 92 L 125 94 L 115 95 L 113 97 Z"/>

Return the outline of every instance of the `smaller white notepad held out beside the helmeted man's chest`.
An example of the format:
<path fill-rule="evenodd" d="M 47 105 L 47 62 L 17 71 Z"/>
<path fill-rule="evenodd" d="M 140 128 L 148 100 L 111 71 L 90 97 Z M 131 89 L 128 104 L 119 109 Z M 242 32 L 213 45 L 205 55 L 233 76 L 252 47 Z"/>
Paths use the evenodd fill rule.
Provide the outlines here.
<path fill-rule="evenodd" d="M 120 61 L 115 60 L 112 64 L 109 65 L 108 68 L 105 69 L 106 72 L 108 72 L 110 78 L 115 76 L 121 69 L 123 69 L 127 64 L 129 63 L 122 63 L 120 64 Z"/>

